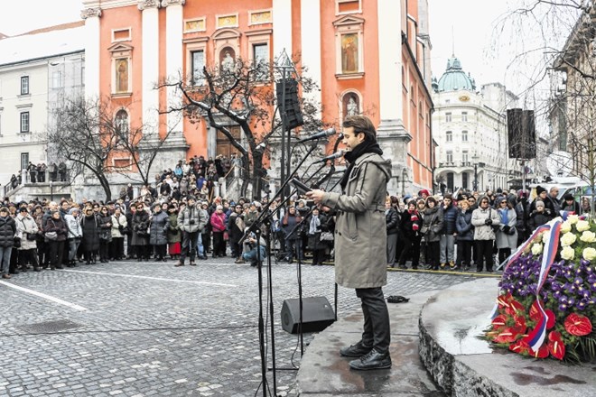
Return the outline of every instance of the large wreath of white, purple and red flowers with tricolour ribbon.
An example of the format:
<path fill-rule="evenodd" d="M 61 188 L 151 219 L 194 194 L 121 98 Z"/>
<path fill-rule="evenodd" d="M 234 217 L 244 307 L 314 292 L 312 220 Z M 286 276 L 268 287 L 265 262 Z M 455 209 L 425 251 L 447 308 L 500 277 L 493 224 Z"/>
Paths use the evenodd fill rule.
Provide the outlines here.
<path fill-rule="evenodd" d="M 596 225 L 557 218 L 512 254 L 485 337 L 520 355 L 596 362 Z"/>

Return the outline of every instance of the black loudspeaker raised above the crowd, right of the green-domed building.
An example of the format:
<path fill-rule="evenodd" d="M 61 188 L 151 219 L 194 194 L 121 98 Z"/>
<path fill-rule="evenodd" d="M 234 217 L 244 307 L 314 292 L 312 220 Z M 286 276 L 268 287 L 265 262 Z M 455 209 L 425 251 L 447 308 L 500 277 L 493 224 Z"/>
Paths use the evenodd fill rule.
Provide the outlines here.
<path fill-rule="evenodd" d="M 534 110 L 508 109 L 507 130 L 510 159 L 535 159 Z"/>

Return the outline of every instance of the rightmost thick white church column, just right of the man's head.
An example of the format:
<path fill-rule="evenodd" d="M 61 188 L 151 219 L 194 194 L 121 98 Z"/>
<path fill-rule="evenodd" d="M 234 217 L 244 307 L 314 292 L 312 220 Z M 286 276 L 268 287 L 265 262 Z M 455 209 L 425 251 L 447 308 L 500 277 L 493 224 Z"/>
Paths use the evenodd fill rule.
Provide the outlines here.
<path fill-rule="evenodd" d="M 405 176 L 407 144 L 412 140 L 402 115 L 402 29 L 396 26 L 396 21 L 402 20 L 400 2 L 377 0 L 377 18 L 380 115 L 377 137 L 385 158 L 391 159 L 393 178 L 387 189 L 397 191 L 396 177 L 401 180 Z M 400 44 L 396 46 L 396 43 Z"/>

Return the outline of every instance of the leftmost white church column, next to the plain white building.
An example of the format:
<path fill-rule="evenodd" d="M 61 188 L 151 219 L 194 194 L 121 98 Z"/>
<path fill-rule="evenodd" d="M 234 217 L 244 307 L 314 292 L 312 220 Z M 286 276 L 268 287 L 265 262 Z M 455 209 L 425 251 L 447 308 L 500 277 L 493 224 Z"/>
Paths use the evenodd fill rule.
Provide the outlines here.
<path fill-rule="evenodd" d="M 99 17 L 100 8 L 86 8 L 80 13 L 85 20 L 85 97 L 99 97 Z"/>

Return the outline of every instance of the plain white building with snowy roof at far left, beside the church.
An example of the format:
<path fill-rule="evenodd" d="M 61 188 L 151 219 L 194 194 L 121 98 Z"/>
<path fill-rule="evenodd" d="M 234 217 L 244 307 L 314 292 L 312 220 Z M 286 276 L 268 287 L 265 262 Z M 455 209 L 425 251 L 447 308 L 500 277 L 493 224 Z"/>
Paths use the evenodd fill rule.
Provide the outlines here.
<path fill-rule="evenodd" d="M 67 23 L 0 40 L 0 184 L 28 162 L 48 157 L 51 109 L 84 88 L 83 23 Z"/>

